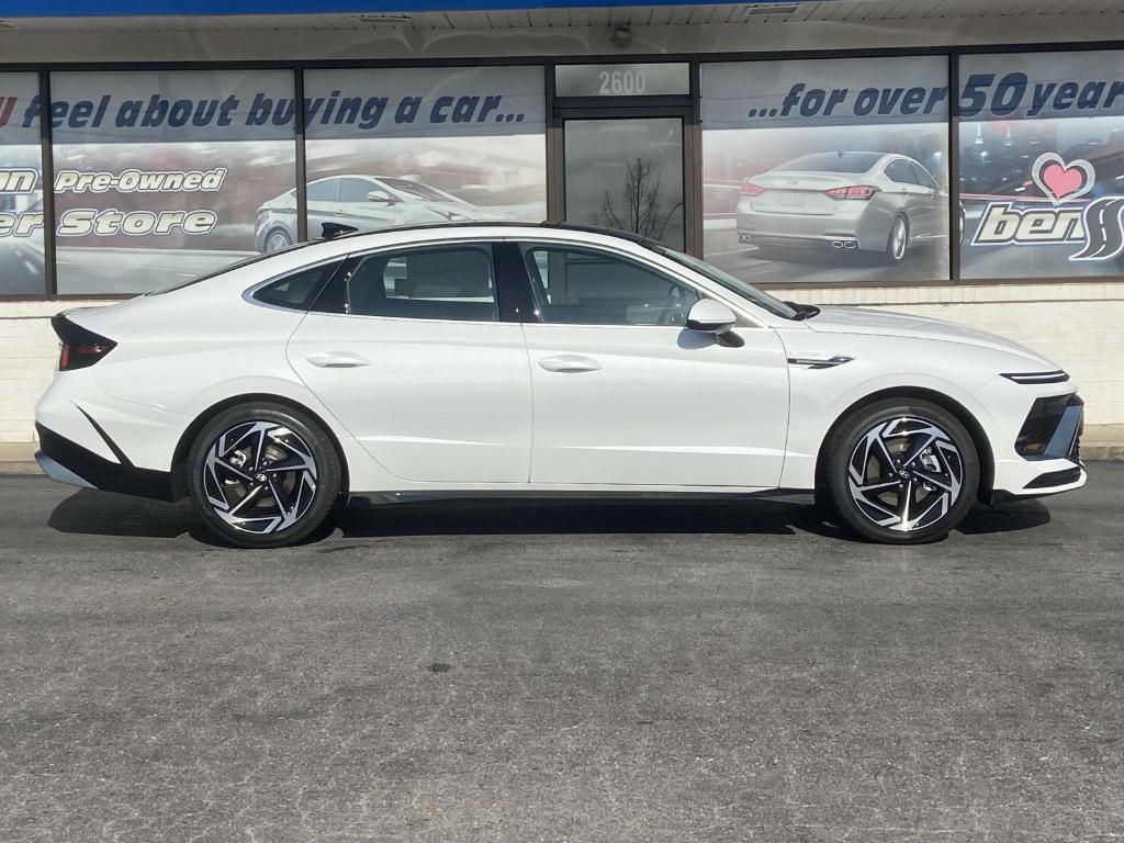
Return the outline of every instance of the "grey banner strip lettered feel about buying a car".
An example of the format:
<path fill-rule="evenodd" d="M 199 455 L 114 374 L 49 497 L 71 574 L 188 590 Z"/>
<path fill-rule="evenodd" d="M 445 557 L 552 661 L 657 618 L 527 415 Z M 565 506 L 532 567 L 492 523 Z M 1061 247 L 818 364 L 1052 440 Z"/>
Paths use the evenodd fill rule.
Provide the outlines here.
<path fill-rule="evenodd" d="M 57 73 L 51 123 L 56 143 L 291 139 L 292 74 L 254 71 Z M 38 126 L 38 93 L 0 92 L 0 137 Z M 542 67 L 309 71 L 310 137 L 417 137 L 541 133 Z"/>

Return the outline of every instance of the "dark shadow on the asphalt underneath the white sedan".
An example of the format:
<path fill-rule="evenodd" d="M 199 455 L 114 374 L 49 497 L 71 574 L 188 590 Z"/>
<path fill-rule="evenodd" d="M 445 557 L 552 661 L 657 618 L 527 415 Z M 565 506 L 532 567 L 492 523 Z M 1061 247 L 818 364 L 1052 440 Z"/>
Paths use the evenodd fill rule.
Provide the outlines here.
<path fill-rule="evenodd" d="M 968 535 L 1030 529 L 1050 522 L 1039 501 L 999 509 L 977 506 L 959 532 Z M 205 544 L 187 501 L 166 504 L 83 489 L 60 502 L 47 522 L 60 533 L 173 538 L 183 534 Z M 344 538 L 415 535 L 531 534 L 761 534 L 797 532 L 856 542 L 826 523 L 810 496 L 791 499 L 725 500 L 443 500 L 372 506 L 356 502 L 336 519 Z M 318 536 L 317 538 L 323 538 Z"/>

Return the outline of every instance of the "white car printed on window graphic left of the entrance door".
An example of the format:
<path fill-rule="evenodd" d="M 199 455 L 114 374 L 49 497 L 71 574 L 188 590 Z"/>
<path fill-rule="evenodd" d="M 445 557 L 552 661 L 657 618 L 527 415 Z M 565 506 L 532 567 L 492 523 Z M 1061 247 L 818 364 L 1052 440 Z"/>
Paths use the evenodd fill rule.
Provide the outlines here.
<path fill-rule="evenodd" d="M 308 184 L 308 234 L 319 237 L 325 223 L 357 230 L 375 230 L 427 223 L 507 220 L 511 216 L 457 199 L 452 193 L 411 179 L 387 175 L 332 175 Z M 257 209 L 254 245 L 278 252 L 297 242 L 294 190 Z"/>

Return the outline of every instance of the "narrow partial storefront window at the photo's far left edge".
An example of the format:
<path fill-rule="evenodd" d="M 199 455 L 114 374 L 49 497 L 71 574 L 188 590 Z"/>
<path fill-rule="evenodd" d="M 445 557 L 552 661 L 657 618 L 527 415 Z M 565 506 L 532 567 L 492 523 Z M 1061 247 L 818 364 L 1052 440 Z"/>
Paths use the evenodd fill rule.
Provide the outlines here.
<path fill-rule="evenodd" d="M 0 296 L 42 296 L 39 79 L 0 74 Z"/>

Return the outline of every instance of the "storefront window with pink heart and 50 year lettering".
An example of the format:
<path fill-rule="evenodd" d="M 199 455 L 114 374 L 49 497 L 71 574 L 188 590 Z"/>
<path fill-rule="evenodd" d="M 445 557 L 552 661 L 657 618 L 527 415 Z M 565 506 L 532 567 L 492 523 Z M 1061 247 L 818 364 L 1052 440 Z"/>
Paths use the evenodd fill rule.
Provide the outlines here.
<path fill-rule="evenodd" d="M 966 279 L 1124 274 L 1124 52 L 960 60 Z"/>

